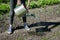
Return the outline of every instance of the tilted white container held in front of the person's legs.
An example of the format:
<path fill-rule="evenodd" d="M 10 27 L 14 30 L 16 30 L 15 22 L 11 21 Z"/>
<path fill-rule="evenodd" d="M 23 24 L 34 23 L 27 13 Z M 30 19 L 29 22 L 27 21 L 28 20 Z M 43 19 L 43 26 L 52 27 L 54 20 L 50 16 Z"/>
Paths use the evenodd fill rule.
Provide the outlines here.
<path fill-rule="evenodd" d="M 24 5 L 17 6 L 14 8 L 15 15 L 22 16 L 23 14 L 27 13 L 27 9 L 24 7 Z"/>

